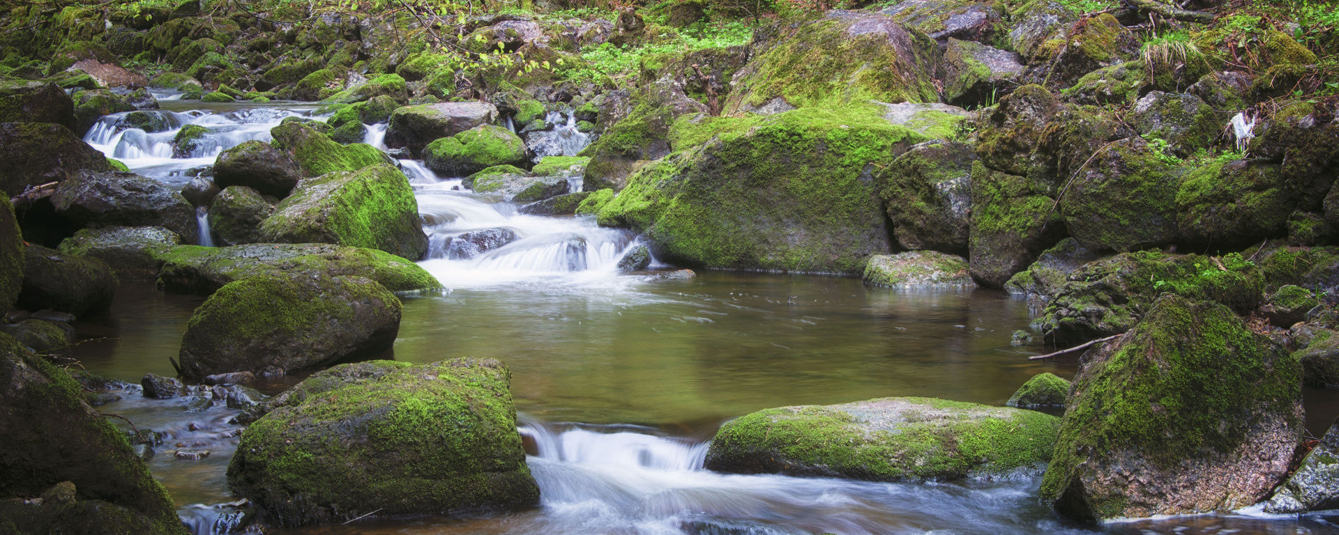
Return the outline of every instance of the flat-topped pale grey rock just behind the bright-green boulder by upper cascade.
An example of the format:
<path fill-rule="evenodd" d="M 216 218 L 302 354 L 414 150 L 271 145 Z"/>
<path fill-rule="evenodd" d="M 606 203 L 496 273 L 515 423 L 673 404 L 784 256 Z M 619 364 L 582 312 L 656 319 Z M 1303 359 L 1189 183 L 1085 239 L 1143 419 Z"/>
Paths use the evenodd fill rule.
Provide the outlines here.
<path fill-rule="evenodd" d="M 386 131 L 386 144 L 418 155 L 428 143 L 450 138 L 498 118 L 498 108 L 485 102 L 447 102 L 396 108 Z"/>

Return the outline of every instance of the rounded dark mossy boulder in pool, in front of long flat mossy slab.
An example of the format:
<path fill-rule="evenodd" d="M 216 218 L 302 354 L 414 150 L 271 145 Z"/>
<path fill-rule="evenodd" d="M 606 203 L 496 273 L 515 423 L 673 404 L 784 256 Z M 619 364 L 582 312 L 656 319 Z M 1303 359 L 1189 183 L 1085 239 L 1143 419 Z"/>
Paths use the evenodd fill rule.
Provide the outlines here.
<path fill-rule="evenodd" d="M 257 276 L 220 288 L 181 341 L 182 374 L 285 374 L 395 342 L 400 300 L 362 277 Z"/>

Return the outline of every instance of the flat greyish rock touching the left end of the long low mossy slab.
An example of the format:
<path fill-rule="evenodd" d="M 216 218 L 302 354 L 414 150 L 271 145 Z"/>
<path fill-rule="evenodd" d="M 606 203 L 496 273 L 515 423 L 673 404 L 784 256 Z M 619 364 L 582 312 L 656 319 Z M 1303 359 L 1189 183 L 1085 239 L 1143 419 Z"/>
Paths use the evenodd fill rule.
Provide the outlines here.
<path fill-rule="evenodd" d="M 161 226 L 102 226 L 66 238 L 60 253 L 107 262 L 122 281 L 153 281 L 162 268 L 162 254 L 178 245 L 181 235 Z"/>

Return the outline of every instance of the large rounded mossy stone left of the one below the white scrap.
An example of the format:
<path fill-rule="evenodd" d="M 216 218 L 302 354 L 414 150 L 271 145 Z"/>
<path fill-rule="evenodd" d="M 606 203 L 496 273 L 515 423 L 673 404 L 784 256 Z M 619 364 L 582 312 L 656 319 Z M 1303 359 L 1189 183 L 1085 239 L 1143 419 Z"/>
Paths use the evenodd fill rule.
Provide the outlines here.
<path fill-rule="evenodd" d="M 1070 235 L 1093 250 L 1130 251 L 1177 239 L 1181 169 L 1142 138 L 1109 143 L 1069 182 L 1059 213 Z"/>

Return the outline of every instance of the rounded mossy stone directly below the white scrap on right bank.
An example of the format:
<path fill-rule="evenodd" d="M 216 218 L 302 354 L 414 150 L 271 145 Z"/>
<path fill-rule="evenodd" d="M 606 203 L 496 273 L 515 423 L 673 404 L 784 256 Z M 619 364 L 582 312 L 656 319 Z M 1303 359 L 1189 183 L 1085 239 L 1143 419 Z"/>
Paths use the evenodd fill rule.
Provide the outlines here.
<path fill-rule="evenodd" d="M 1176 191 L 1182 238 L 1214 247 L 1287 235 L 1299 201 L 1279 166 L 1251 160 L 1212 160 L 1186 173 Z"/>

